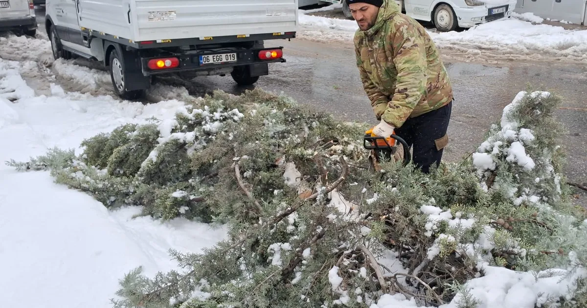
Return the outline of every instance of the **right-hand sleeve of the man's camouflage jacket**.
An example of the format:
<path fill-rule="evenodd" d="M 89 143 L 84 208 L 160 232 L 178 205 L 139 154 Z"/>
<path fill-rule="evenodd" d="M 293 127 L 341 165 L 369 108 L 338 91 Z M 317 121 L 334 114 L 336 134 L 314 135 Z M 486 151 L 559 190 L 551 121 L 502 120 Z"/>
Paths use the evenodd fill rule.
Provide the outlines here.
<path fill-rule="evenodd" d="M 397 18 L 390 25 L 386 40 L 386 46 L 392 49 L 397 81 L 395 93 L 382 118 L 394 127 L 401 127 L 426 93 L 424 35 L 407 19 Z"/>

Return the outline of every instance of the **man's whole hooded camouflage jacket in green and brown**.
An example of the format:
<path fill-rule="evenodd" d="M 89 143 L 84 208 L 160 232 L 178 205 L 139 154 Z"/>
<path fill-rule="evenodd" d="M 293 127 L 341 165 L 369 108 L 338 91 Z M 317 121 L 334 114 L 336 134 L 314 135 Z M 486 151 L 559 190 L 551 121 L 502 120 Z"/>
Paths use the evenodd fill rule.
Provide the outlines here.
<path fill-rule="evenodd" d="M 384 0 L 377 21 L 355 33 L 360 78 L 377 120 L 401 127 L 448 104 L 453 90 L 440 55 L 423 26 Z"/>

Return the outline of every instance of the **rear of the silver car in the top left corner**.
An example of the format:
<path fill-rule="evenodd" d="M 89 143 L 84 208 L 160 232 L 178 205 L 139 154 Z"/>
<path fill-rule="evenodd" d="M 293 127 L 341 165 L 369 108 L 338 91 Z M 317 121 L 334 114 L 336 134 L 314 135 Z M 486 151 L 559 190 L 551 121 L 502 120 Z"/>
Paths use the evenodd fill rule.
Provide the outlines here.
<path fill-rule="evenodd" d="M 32 0 L 0 0 L 0 31 L 35 36 L 37 22 Z"/>

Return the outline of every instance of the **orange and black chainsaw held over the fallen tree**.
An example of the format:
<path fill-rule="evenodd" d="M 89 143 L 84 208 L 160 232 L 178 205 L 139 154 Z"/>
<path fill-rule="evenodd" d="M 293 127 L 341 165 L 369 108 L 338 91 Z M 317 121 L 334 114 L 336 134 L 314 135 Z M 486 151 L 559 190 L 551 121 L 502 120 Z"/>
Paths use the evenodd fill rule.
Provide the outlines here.
<path fill-rule="evenodd" d="M 363 147 L 365 147 L 367 150 L 371 150 L 371 153 L 369 154 L 369 163 L 377 172 L 381 170 L 379 167 L 379 162 L 382 159 L 386 161 L 393 161 L 397 160 L 399 156 L 400 159 L 403 157 L 404 165 L 410 163 L 410 148 L 402 137 L 399 137 L 395 134 L 392 134 L 388 138 L 379 137 L 373 133 L 373 128 L 375 127 L 365 131 Z M 399 145 L 401 145 L 403 155 L 396 155 Z"/>

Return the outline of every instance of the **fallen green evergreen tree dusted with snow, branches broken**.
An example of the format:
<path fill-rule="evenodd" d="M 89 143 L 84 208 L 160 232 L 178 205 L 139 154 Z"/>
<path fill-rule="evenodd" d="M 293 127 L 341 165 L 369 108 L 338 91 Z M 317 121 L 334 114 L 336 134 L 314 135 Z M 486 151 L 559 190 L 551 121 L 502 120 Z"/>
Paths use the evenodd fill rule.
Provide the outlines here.
<path fill-rule="evenodd" d="M 121 126 L 85 140 L 81 155 L 9 164 L 50 170 L 109 208 L 229 226 L 203 253 L 171 251 L 181 270 L 128 273 L 115 307 L 472 308 L 508 275 L 528 307 L 578 307 L 587 222 L 560 173 L 558 103 L 520 93 L 476 153 L 430 175 L 396 161 L 374 172 L 364 124 L 261 90 Z"/>

